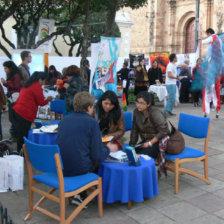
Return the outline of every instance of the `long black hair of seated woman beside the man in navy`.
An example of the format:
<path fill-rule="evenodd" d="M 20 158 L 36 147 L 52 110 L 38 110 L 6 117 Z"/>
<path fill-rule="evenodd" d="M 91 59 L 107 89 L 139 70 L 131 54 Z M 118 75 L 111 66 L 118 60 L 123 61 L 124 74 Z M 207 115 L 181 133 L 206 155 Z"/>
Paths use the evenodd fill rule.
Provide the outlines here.
<path fill-rule="evenodd" d="M 102 106 L 102 101 L 106 99 L 109 99 L 111 101 L 111 103 L 114 105 L 114 108 L 105 118 L 105 111 Z M 107 132 L 109 131 L 110 121 L 113 120 L 113 123 L 117 124 L 118 120 L 121 117 L 121 108 L 119 105 L 119 101 L 117 99 L 117 95 L 113 91 L 108 90 L 100 97 L 96 104 L 96 113 L 98 116 L 101 131 L 104 132 L 103 134 L 107 134 Z"/>

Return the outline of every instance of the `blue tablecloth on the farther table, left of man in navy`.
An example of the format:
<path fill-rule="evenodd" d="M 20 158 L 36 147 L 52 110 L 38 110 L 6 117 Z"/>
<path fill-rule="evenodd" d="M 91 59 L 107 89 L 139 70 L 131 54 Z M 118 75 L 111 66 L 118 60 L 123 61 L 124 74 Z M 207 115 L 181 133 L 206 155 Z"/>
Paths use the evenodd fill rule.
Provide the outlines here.
<path fill-rule="evenodd" d="M 42 145 L 55 145 L 57 133 L 33 133 L 33 130 L 29 130 L 28 139 L 32 142 Z"/>

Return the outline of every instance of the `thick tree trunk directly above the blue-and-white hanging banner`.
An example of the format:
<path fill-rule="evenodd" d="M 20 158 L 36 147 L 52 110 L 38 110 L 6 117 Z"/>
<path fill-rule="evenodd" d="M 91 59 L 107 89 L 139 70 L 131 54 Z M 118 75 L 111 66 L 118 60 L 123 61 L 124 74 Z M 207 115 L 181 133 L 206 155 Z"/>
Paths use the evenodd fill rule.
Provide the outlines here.
<path fill-rule="evenodd" d="M 110 5 L 108 5 L 107 13 L 106 13 L 106 36 L 112 37 L 114 34 L 114 24 L 116 11 L 118 7 L 118 0 L 111 1 Z"/>

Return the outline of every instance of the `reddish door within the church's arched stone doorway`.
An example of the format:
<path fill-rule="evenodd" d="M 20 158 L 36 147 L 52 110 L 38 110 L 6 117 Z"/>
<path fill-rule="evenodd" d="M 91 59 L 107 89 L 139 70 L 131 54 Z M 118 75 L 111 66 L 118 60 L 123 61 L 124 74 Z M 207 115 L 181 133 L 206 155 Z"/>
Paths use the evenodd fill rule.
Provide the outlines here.
<path fill-rule="evenodd" d="M 191 19 L 186 26 L 185 33 L 185 53 L 194 52 L 195 38 L 195 18 Z"/>

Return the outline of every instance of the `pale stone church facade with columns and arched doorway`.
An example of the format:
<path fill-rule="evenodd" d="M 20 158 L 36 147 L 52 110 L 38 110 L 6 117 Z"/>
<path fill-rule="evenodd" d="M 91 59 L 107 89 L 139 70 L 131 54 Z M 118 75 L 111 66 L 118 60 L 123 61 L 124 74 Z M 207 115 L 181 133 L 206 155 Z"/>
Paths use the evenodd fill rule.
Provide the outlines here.
<path fill-rule="evenodd" d="M 194 52 L 196 0 L 148 0 L 140 9 L 122 10 L 130 13 L 132 22 L 130 53 Z M 206 37 L 209 27 L 223 32 L 223 14 L 223 0 L 200 0 L 199 37 Z"/>

